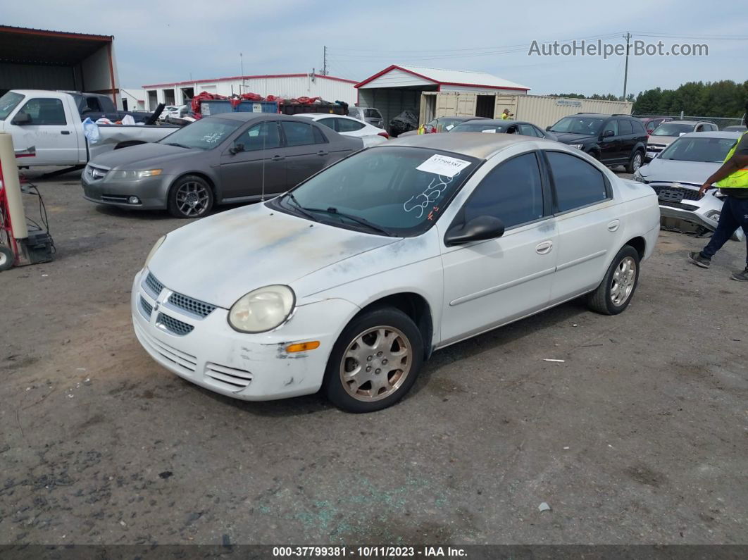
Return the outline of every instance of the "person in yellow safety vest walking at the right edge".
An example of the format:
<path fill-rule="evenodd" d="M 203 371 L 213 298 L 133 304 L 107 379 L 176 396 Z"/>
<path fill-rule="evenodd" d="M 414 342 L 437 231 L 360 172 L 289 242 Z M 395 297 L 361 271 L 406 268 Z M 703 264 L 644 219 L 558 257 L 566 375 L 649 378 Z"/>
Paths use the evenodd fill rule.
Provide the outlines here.
<path fill-rule="evenodd" d="M 748 104 L 746 109 L 748 111 Z M 743 119 L 748 126 L 748 113 Z M 722 248 L 738 227 L 742 227 L 746 234 L 746 268 L 742 272 L 736 272 L 731 278 L 748 282 L 748 132 L 744 132 L 738 143 L 727 153 L 722 167 L 699 188 L 699 196 L 704 196 L 706 191 L 714 188 L 712 183 L 717 183 L 722 194 L 726 195 L 720 221 L 706 247 L 699 252 L 690 253 L 689 259 L 696 266 L 709 268 L 714 253 Z"/>

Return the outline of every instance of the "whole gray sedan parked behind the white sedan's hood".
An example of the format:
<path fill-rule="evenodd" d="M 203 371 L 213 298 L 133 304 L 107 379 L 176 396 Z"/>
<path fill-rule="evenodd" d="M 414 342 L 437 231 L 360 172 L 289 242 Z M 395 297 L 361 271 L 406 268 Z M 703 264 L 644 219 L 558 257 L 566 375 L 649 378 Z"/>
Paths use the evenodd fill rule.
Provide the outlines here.
<path fill-rule="evenodd" d="M 285 192 L 363 145 L 305 118 L 224 113 L 159 142 L 102 154 L 81 182 L 92 202 L 199 218 L 214 204 Z"/>

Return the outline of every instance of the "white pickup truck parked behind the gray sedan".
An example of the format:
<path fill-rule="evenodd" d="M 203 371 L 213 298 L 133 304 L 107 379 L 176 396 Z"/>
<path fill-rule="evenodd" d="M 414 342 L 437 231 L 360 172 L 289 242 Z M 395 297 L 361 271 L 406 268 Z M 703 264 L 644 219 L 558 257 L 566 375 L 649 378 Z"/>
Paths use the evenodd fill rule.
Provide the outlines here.
<path fill-rule="evenodd" d="M 70 93 L 10 90 L 0 97 L 0 130 L 10 132 L 21 167 L 78 167 L 100 153 L 155 142 L 179 129 L 159 125 L 99 125 L 99 140 L 83 134 L 81 114 Z"/>

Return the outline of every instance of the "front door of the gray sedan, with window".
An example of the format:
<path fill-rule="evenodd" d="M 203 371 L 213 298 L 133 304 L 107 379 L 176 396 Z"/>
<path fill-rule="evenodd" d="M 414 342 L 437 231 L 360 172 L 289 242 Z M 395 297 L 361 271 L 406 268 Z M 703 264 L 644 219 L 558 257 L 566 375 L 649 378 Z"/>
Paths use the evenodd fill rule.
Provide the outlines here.
<path fill-rule="evenodd" d="M 285 191 L 284 150 L 278 121 L 248 126 L 221 153 L 223 200 Z"/>

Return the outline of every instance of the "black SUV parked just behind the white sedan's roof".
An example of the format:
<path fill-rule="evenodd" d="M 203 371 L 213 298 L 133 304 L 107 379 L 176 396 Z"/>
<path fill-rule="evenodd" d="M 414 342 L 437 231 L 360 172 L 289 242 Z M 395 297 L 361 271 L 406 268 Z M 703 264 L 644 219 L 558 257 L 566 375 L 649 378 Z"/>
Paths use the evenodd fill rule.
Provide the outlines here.
<path fill-rule="evenodd" d="M 546 130 L 605 165 L 625 165 L 628 173 L 644 161 L 647 132 L 639 119 L 628 114 L 577 113 Z"/>

